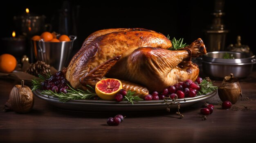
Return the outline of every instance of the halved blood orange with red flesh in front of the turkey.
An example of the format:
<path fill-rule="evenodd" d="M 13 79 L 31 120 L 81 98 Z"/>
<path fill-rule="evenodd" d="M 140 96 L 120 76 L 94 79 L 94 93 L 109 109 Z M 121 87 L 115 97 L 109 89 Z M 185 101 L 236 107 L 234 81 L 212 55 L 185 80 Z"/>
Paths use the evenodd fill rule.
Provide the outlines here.
<path fill-rule="evenodd" d="M 101 79 L 95 86 L 95 92 L 103 100 L 113 100 L 122 88 L 122 83 L 118 79 Z"/>

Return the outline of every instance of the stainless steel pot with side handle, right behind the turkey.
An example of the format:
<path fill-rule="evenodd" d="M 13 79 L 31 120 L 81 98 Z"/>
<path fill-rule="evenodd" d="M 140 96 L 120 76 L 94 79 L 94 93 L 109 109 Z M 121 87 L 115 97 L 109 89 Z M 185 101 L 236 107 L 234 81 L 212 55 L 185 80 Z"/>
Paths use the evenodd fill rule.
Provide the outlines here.
<path fill-rule="evenodd" d="M 223 59 L 225 53 L 234 54 L 235 59 Z M 204 74 L 214 79 L 223 79 L 230 73 L 245 78 L 252 73 L 253 64 L 256 64 L 255 55 L 245 57 L 237 52 L 209 52 L 202 57 Z"/>

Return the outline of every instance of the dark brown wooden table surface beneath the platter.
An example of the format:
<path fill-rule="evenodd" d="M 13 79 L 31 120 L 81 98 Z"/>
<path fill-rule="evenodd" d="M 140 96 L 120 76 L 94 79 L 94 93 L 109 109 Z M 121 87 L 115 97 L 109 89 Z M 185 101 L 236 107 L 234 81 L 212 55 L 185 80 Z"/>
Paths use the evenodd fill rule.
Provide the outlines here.
<path fill-rule="evenodd" d="M 204 121 L 200 114 L 204 101 L 182 108 L 182 119 L 176 110 L 132 112 L 122 113 L 126 118 L 120 125 L 108 126 L 108 117 L 117 113 L 67 112 L 35 97 L 34 108 L 27 114 L 0 112 L 0 143 L 255 143 L 256 70 L 239 83 L 243 97 L 229 110 L 218 105 L 218 94 L 212 97 L 208 102 L 215 108 Z M 16 84 L 19 81 L 0 77 L 1 107 Z"/>

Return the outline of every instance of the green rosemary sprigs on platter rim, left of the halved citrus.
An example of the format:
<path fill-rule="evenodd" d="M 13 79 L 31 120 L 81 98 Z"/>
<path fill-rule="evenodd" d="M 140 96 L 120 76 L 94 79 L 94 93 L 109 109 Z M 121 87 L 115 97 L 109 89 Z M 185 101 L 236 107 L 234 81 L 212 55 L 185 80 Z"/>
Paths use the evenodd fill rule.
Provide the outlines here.
<path fill-rule="evenodd" d="M 69 85 L 67 84 L 67 86 Z M 67 90 L 67 93 L 63 93 L 63 92 L 56 93 L 56 92 L 53 92 L 52 90 L 43 90 L 41 93 L 44 95 L 57 97 L 61 102 L 66 102 L 69 100 L 76 100 L 76 99 L 91 99 L 92 97 L 97 96 L 95 92 L 91 92 L 88 89 L 83 91 L 80 89 L 75 90 L 71 86 L 69 86 L 69 88 L 70 90 Z M 90 86 L 90 89 L 91 88 L 92 87 Z"/>

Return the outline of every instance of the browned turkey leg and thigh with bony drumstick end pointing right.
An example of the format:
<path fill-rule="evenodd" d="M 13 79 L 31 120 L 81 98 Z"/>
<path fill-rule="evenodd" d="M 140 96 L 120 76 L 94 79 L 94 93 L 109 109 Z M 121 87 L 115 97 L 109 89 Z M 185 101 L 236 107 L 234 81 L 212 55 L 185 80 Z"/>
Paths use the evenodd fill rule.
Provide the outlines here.
<path fill-rule="evenodd" d="M 206 49 L 200 38 L 179 51 L 138 48 L 119 60 L 106 76 L 140 84 L 150 92 L 162 92 L 164 88 L 179 81 L 195 81 L 199 68 L 190 58 L 205 53 Z"/>

